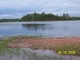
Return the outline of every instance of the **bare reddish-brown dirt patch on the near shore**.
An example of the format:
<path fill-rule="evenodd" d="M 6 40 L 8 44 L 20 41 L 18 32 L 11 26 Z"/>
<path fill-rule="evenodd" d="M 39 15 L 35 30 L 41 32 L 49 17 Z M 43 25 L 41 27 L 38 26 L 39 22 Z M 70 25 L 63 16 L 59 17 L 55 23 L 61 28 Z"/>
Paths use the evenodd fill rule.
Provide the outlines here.
<path fill-rule="evenodd" d="M 80 43 L 80 37 L 68 38 L 26 38 L 8 44 L 12 48 L 50 48 L 64 44 Z"/>

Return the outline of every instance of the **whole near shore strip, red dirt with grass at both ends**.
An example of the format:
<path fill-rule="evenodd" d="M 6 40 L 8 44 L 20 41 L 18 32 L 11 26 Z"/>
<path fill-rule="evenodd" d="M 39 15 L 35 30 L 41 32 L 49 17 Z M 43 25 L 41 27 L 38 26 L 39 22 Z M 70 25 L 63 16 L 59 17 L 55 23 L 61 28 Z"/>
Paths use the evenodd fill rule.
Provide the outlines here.
<path fill-rule="evenodd" d="M 2 50 L 6 48 L 31 48 L 34 50 L 52 50 L 57 54 L 80 56 L 80 37 L 42 38 L 34 36 L 13 36 L 4 37 L 0 40 Z M 67 52 L 67 54 L 64 53 Z M 68 52 L 75 52 L 68 53 Z"/>

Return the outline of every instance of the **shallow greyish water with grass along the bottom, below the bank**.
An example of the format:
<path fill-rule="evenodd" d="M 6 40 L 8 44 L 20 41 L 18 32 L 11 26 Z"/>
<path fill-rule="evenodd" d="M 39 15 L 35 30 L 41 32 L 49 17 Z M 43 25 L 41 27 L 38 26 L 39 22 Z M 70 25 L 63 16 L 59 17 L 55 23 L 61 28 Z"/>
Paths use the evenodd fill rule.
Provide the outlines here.
<path fill-rule="evenodd" d="M 32 50 L 30 48 L 20 48 L 18 51 L 14 50 L 4 55 L 0 54 L 0 60 L 80 60 L 80 57 L 58 55 L 54 51 L 50 50 Z"/>

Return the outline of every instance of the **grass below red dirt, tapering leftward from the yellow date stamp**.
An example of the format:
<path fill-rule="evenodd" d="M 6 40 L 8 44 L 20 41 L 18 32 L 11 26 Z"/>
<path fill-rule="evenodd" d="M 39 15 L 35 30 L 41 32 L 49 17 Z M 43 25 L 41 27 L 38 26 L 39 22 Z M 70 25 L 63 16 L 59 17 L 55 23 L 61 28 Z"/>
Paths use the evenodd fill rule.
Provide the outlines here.
<path fill-rule="evenodd" d="M 80 56 L 80 43 L 77 44 L 64 44 L 60 46 L 42 46 L 42 45 L 34 45 L 31 47 L 32 49 L 49 49 L 54 50 L 57 54 L 58 51 L 61 51 L 62 55 L 77 55 Z M 67 52 L 67 53 L 65 53 Z"/>

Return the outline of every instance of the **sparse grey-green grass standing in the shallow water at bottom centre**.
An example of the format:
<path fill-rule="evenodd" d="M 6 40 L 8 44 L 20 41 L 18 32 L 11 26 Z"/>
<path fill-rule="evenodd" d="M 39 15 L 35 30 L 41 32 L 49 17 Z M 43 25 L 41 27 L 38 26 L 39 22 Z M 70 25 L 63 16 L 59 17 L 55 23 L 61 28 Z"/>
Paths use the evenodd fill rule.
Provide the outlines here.
<path fill-rule="evenodd" d="M 41 55 L 31 50 L 23 49 L 23 56 L 27 56 L 29 60 L 52 60 L 52 55 Z"/>

